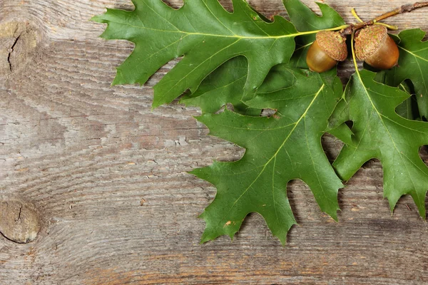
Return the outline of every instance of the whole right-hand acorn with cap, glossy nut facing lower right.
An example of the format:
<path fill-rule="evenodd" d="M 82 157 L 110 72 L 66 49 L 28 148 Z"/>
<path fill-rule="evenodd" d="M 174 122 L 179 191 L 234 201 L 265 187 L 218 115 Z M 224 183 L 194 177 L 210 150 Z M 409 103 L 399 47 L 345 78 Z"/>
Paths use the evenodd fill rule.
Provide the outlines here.
<path fill-rule="evenodd" d="M 399 51 L 397 44 L 388 35 L 385 26 L 367 26 L 355 36 L 355 54 L 358 59 L 378 69 L 397 66 Z"/>

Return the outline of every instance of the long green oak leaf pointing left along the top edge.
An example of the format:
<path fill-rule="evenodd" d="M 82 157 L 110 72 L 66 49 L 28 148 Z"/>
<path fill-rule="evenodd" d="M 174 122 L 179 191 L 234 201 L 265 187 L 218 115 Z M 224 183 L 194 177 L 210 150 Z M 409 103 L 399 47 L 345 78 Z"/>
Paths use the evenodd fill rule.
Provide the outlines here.
<path fill-rule="evenodd" d="M 161 0 L 133 0 L 134 11 L 107 9 L 93 21 L 108 24 L 101 35 L 135 43 L 117 68 L 113 84 L 146 83 L 173 58 L 183 59 L 154 87 L 153 108 L 170 103 L 236 56 L 248 61 L 245 92 L 263 83 L 272 66 L 287 63 L 301 35 L 281 16 L 267 22 L 245 0 L 233 0 L 233 13 L 218 0 L 187 0 L 173 9 Z"/>

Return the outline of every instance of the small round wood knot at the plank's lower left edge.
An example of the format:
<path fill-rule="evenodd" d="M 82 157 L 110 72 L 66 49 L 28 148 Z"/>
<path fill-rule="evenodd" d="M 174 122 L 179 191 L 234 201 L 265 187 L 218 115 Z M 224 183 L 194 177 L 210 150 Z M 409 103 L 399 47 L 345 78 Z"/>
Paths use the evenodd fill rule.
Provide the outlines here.
<path fill-rule="evenodd" d="M 33 204 L 0 201 L 0 232 L 6 239 L 26 244 L 36 239 L 39 229 L 39 216 Z"/>

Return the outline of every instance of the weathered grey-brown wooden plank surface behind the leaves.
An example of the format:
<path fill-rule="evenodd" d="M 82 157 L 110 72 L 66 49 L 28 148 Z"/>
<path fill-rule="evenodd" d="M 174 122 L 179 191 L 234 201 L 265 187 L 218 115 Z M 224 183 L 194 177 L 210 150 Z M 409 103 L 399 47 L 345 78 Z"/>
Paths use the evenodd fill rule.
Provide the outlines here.
<path fill-rule="evenodd" d="M 285 15 L 280 0 L 250 3 Z M 325 3 L 348 22 L 352 7 L 367 20 L 407 4 Z M 104 26 L 88 20 L 106 6 L 132 9 L 129 0 L 0 0 L 0 228 L 9 236 L 0 236 L 0 284 L 428 284 L 427 223 L 409 197 L 390 214 L 375 161 L 340 191 L 339 223 L 291 182 L 300 225 L 286 247 L 258 214 L 233 242 L 199 244 L 197 216 L 215 188 L 187 172 L 243 152 L 208 136 L 197 108 L 151 111 L 151 86 L 176 61 L 142 88 L 110 86 L 133 46 L 98 38 Z M 428 31 L 427 15 L 387 22 Z M 340 68 L 349 78 L 352 65 Z M 324 143 L 334 157 L 340 143 Z"/>

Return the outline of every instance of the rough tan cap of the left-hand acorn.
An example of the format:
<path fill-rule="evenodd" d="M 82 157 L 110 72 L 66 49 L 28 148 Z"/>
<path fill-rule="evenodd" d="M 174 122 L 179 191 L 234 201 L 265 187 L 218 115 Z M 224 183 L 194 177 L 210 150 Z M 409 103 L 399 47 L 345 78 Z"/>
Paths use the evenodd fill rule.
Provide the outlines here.
<path fill-rule="evenodd" d="M 335 61 L 345 61 L 347 58 L 346 38 L 334 31 L 317 33 L 318 45 Z"/>

